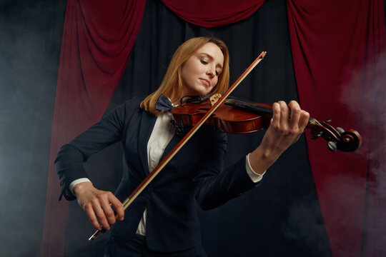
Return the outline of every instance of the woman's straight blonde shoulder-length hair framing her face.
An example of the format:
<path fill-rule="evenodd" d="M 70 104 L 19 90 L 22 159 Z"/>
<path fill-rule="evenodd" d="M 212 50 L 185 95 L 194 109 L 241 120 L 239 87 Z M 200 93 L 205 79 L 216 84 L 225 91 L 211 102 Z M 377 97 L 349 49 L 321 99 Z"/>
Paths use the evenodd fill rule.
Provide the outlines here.
<path fill-rule="evenodd" d="M 167 97 L 171 97 L 174 92 L 177 92 L 177 96 L 182 94 L 182 78 L 181 78 L 181 67 L 187 59 L 193 56 L 198 49 L 204 46 L 207 43 L 213 43 L 219 47 L 224 55 L 224 64 L 221 74 L 219 74 L 219 79 L 217 85 L 214 87 L 210 94 L 224 94 L 227 91 L 229 86 L 229 54 L 227 46 L 223 41 L 216 39 L 214 37 L 196 37 L 189 39 L 184 42 L 177 51 L 175 51 L 172 60 L 170 61 L 167 72 L 162 80 L 161 85 L 157 91 L 154 91 L 152 94 L 147 96 L 144 101 L 141 103 L 141 108 L 149 111 L 149 113 L 158 116 L 162 111 L 155 109 L 157 100 L 161 94 L 164 94 Z"/>

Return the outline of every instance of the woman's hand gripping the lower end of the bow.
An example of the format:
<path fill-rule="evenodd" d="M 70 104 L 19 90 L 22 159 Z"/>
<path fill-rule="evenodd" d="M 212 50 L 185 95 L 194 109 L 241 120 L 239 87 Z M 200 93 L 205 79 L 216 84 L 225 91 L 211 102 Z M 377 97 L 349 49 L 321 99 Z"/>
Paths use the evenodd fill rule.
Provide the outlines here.
<path fill-rule="evenodd" d="M 97 230 L 109 230 L 116 221 L 112 206 L 117 212 L 119 221 L 124 219 L 124 208 L 117 197 L 110 191 L 94 188 L 91 182 L 82 182 L 74 186 L 74 193 L 79 206 L 86 211 L 89 220 Z M 101 226 L 102 225 L 102 226 Z"/>

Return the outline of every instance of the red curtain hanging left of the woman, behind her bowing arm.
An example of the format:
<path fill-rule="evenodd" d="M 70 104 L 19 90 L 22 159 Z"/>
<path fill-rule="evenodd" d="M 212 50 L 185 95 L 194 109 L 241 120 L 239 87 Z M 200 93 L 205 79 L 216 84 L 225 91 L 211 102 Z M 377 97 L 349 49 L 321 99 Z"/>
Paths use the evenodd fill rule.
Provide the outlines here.
<path fill-rule="evenodd" d="M 54 158 L 60 146 L 104 113 L 142 21 L 145 0 L 68 0 L 56 87 L 41 256 L 64 255 L 68 202 L 58 201 Z"/>

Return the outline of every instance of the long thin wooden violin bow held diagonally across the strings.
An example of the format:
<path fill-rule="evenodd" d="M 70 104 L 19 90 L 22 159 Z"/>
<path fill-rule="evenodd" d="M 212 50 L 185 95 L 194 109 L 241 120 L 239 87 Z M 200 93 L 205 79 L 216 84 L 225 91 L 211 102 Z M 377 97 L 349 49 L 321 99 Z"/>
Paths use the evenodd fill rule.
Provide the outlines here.
<path fill-rule="evenodd" d="M 169 161 L 172 160 L 172 158 L 178 153 L 178 151 L 182 148 L 182 146 L 184 146 L 185 143 L 187 143 L 187 141 L 189 141 L 189 139 L 192 138 L 194 133 L 196 133 L 198 129 L 205 123 L 205 121 L 209 119 L 209 117 L 214 113 L 214 111 L 217 110 L 220 104 L 222 104 L 227 99 L 229 94 L 231 94 L 232 91 L 234 91 L 234 89 L 236 89 L 236 87 L 239 86 L 239 84 L 254 69 L 254 67 L 256 67 L 260 61 L 262 61 L 265 54 L 267 54 L 267 52 L 262 51 L 262 53 L 259 54 L 259 56 L 257 56 L 257 58 L 252 62 L 252 64 L 250 64 L 249 67 L 239 76 L 239 78 L 236 81 L 234 81 L 234 84 L 232 84 L 232 86 L 229 87 L 229 89 L 224 93 L 224 95 L 217 100 L 216 104 L 214 104 L 212 108 L 209 109 L 204 116 L 202 116 L 199 122 L 197 122 L 197 124 L 194 125 L 192 129 L 189 130 L 189 132 L 184 136 L 184 138 L 182 138 L 181 141 L 179 141 L 177 146 L 174 146 L 172 151 L 170 151 L 167 154 L 167 156 L 165 156 L 165 158 L 161 162 L 159 162 L 159 164 L 154 168 L 154 170 L 149 173 L 149 175 L 144 179 L 144 181 L 142 181 L 142 183 L 140 183 L 139 186 L 137 186 L 137 188 L 135 188 L 134 191 L 132 191 L 132 193 L 122 203 L 124 210 L 126 210 L 127 207 L 129 207 L 130 204 L 132 204 L 132 202 L 137 198 L 137 196 L 139 196 L 139 194 L 142 193 L 142 191 L 144 191 L 144 188 L 146 188 L 149 185 L 149 183 L 152 182 L 152 180 L 158 175 L 158 173 L 162 171 L 162 168 L 164 168 L 164 166 L 166 166 L 167 163 L 169 163 Z M 115 217 L 117 218 L 117 214 Z M 103 228 L 102 228 L 102 231 L 99 231 L 99 230 L 95 231 L 95 233 L 92 234 L 92 236 L 89 238 L 89 241 L 94 240 L 101 232 L 102 233 L 105 232 Z"/>

